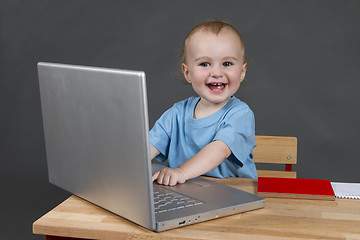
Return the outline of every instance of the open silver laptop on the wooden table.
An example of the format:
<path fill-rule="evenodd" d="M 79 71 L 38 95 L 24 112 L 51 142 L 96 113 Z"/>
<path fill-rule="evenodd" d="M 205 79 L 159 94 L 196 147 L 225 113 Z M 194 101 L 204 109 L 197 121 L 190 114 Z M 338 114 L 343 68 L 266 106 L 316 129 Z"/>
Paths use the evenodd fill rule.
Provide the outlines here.
<path fill-rule="evenodd" d="M 52 184 L 157 232 L 265 206 L 203 178 L 152 182 L 144 72 L 40 62 L 38 74 Z"/>

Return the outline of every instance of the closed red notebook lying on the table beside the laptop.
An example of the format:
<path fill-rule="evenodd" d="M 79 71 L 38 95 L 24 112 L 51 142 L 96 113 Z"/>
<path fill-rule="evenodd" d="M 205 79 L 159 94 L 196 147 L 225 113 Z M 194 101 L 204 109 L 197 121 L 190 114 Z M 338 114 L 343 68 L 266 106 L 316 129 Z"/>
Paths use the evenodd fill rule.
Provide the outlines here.
<path fill-rule="evenodd" d="M 258 178 L 258 195 L 277 198 L 335 200 L 329 180 L 301 178 Z"/>

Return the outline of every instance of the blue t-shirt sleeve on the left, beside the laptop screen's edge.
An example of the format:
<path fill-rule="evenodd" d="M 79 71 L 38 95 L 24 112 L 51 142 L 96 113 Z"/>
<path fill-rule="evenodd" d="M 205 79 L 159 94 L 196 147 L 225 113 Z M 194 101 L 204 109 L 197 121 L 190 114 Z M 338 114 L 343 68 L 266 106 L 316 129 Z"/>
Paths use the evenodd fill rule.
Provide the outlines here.
<path fill-rule="evenodd" d="M 170 134 L 172 130 L 173 109 L 170 108 L 155 122 L 150 130 L 150 143 L 160 152 L 155 158 L 163 162 L 169 154 Z"/>

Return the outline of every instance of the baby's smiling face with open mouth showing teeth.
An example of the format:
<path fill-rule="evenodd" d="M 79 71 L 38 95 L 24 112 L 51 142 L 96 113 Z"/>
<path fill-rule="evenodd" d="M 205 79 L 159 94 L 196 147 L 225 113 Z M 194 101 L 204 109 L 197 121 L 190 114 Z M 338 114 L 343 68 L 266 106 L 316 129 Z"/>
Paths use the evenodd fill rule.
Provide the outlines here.
<path fill-rule="evenodd" d="M 182 68 L 195 92 L 212 104 L 227 102 L 246 73 L 239 37 L 228 29 L 218 35 L 199 31 L 190 37 L 185 51 Z"/>

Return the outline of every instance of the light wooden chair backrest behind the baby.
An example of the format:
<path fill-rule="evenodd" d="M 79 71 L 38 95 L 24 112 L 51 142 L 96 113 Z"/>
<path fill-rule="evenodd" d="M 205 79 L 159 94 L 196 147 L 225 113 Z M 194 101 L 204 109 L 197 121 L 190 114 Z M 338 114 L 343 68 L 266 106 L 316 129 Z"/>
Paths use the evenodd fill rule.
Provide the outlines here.
<path fill-rule="evenodd" d="M 296 178 L 292 165 L 297 163 L 297 138 L 278 136 L 255 136 L 254 162 L 257 163 L 258 177 Z M 283 164 L 284 170 L 261 170 L 261 163 Z"/>

